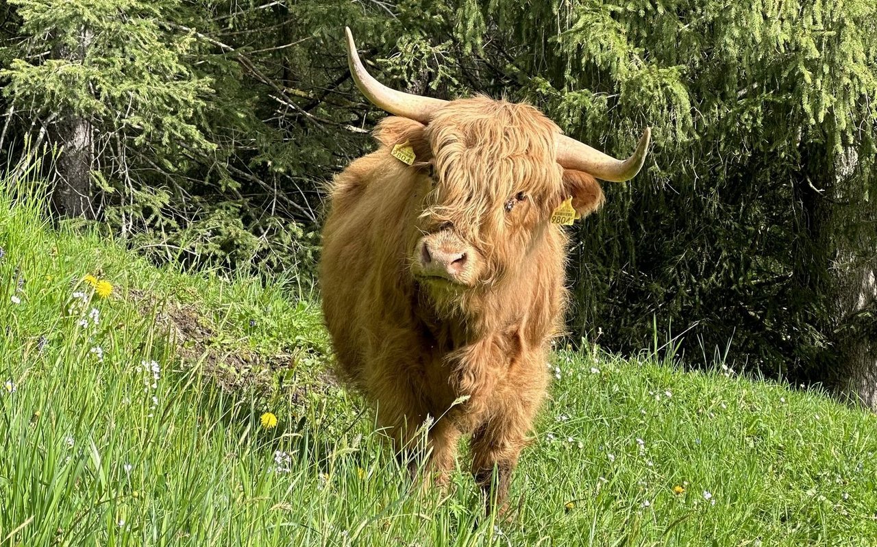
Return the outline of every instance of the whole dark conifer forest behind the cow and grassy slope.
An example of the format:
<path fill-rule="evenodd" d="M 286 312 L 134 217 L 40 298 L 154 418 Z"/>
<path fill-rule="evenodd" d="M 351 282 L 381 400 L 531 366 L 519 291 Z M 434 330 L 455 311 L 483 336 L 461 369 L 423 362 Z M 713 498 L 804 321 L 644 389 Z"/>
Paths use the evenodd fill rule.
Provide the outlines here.
<path fill-rule="evenodd" d="M 398 89 L 527 101 L 616 156 L 652 126 L 572 229 L 573 343 L 877 406 L 870 0 L 7 0 L 0 166 L 155 261 L 308 293 L 324 188 L 385 115 L 345 25 Z"/>

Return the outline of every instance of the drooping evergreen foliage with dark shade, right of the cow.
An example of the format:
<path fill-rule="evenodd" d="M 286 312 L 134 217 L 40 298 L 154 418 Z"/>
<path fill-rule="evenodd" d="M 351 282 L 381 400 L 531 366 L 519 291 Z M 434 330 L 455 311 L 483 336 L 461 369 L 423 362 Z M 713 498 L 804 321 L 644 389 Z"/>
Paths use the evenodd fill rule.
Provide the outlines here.
<path fill-rule="evenodd" d="M 644 173 L 576 228 L 574 337 L 631 352 L 657 328 L 684 333 L 691 360 L 730 346 L 767 373 L 833 380 L 852 317 L 832 280 L 873 267 L 877 243 L 873 4 L 460 4 L 463 26 L 493 24 L 467 43 L 448 18 L 449 79 L 480 71 L 474 87 L 498 83 L 617 156 L 654 129 Z"/>

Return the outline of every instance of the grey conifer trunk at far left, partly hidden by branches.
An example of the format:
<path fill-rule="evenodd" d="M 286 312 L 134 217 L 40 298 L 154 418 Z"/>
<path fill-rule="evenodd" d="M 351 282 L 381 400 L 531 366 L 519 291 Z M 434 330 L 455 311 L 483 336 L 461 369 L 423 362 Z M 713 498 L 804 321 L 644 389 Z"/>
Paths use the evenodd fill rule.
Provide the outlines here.
<path fill-rule="evenodd" d="M 56 59 L 80 64 L 85 60 L 92 32 L 82 29 L 75 47 L 59 47 Z M 61 112 L 55 125 L 53 140 L 61 149 L 55 163 L 57 174 L 52 205 L 61 217 L 96 217 L 91 192 L 91 167 L 94 162 L 94 128 L 91 122 L 73 111 Z"/>

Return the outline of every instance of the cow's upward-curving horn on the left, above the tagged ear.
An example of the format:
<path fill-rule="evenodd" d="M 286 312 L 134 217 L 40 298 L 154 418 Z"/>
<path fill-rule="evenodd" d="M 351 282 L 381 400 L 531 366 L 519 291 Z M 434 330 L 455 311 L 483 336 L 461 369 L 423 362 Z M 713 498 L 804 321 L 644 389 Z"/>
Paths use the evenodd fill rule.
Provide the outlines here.
<path fill-rule="evenodd" d="M 390 114 L 408 117 L 421 124 L 429 124 L 432 112 L 444 106 L 447 101 L 389 89 L 375 80 L 372 75 L 366 72 L 366 67 L 362 66 L 360 55 L 356 53 L 356 44 L 353 42 L 353 32 L 350 32 L 350 27 L 344 27 L 344 30 L 347 34 L 347 64 L 350 65 L 350 74 L 353 75 L 356 87 L 360 89 L 362 95 L 366 96 L 369 103 L 387 110 Z"/>

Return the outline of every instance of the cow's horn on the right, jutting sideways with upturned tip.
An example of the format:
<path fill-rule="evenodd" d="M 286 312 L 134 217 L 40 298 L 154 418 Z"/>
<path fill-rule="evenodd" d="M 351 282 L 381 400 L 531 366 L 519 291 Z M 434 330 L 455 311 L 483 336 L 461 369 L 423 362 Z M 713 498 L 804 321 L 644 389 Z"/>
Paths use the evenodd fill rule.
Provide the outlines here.
<path fill-rule="evenodd" d="M 630 181 L 643 167 L 650 139 L 652 139 L 652 128 L 646 127 L 631 157 L 627 160 L 616 160 L 566 135 L 558 135 L 557 162 L 567 169 L 584 171 L 603 181 Z"/>

